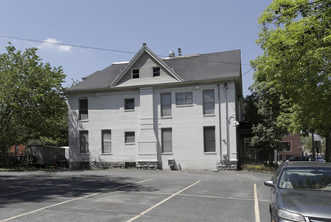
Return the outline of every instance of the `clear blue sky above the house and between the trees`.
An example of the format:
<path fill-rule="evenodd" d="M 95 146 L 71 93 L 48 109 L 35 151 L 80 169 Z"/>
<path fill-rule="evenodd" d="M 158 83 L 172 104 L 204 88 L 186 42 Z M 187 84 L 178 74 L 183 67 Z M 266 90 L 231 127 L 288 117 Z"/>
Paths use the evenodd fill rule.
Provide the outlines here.
<path fill-rule="evenodd" d="M 182 55 L 241 50 L 242 74 L 262 54 L 255 44 L 258 16 L 271 0 L 1 0 L 0 36 L 118 50 L 97 50 L 0 37 L 0 53 L 8 42 L 21 51 L 39 48 L 43 63 L 62 66 L 81 80 L 115 61 L 129 61 L 143 43 L 158 56 L 182 49 Z M 132 52 L 132 53 L 127 53 Z M 250 94 L 253 70 L 242 76 Z"/>

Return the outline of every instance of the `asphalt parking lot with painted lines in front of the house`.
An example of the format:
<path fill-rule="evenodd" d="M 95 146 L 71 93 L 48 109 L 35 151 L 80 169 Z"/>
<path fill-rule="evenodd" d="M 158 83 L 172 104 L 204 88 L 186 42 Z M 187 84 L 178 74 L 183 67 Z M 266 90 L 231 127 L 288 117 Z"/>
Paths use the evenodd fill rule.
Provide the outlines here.
<path fill-rule="evenodd" d="M 271 174 L 243 171 L 0 172 L 1 221 L 269 221 Z"/>

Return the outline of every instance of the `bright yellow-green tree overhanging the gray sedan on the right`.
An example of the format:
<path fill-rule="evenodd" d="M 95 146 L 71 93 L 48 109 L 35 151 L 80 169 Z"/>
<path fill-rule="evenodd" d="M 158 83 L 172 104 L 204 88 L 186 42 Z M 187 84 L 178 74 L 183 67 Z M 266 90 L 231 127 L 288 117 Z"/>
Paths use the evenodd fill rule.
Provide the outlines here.
<path fill-rule="evenodd" d="M 331 151 L 331 0 L 275 0 L 259 17 L 257 44 L 263 55 L 251 61 L 252 88 L 286 94 L 289 107 L 278 124 L 289 131 L 317 133 Z"/>

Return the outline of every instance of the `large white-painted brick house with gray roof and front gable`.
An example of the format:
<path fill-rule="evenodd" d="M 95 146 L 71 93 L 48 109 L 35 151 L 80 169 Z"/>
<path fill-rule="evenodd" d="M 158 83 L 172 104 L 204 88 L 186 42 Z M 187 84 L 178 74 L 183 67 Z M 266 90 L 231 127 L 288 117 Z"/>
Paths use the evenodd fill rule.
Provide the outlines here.
<path fill-rule="evenodd" d="M 144 44 L 83 79 L 66 90 L 71 166 L 236 168 L 240 50 L 159 58 Z"/>

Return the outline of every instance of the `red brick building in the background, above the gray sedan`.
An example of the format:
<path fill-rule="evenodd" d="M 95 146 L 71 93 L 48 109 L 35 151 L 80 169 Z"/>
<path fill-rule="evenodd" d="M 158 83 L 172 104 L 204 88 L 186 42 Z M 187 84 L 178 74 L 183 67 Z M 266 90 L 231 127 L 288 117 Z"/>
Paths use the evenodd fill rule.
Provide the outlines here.
<path fill-rule="evenodd" d="M 279 153 L 279 160 L 285 161 L 291 156 L 301 156 L 301 150 L 300 134 L 287 133 L 282 140 L 282 151 Z"/>

